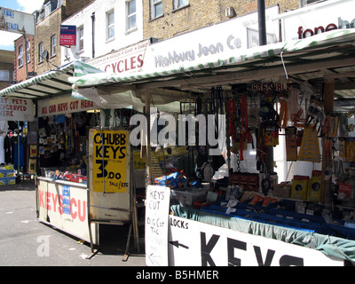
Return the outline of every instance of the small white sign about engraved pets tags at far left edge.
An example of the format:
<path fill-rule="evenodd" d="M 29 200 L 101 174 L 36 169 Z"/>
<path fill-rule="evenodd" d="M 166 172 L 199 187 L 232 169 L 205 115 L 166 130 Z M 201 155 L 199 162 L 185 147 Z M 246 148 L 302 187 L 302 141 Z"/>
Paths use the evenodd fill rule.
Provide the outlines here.
<path fill-rule="evenodd" d="M 0 98 L 0 121 L 33 122 L 34 115 L 31 99 Z"/>

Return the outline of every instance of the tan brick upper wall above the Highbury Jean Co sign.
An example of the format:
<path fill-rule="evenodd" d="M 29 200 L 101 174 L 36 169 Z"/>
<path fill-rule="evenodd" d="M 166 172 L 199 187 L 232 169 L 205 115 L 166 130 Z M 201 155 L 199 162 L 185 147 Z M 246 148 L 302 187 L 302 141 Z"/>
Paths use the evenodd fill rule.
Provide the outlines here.
<path fill-rule="evenodd" d="M 228 20 L 225 15 L 227 7 L 233 7 L 236 16 L 257 9 L 257 0 L 162 0 L 154 3 L 152 0 L 143 1 L 144 37 L 158 40 Z M 298 9 L 300 1 L 265 0 L 265 7 L 275 4 L 279 4 L 280 12 L 286 12 Z"/>

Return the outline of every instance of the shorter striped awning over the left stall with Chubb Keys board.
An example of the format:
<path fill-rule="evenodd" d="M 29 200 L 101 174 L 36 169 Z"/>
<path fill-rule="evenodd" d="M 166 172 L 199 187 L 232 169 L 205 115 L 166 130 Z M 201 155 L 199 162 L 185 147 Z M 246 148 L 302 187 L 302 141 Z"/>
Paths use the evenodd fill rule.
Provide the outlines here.
<path fill-rule="evenodd" d="M 68 82 L 69 77 L 87 75 L 93 72 L 102 71 L 76 60 L 0 90 L 0 96 L 37 100 L 65 95 L 72 92 L 72 84 Z"/>

